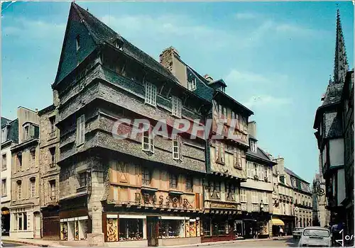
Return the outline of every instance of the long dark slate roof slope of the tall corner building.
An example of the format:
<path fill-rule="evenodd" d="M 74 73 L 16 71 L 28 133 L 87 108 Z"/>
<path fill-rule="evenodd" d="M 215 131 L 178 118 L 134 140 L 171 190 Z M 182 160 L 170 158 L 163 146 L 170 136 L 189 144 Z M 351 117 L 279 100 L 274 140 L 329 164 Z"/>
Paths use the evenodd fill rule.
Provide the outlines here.
<path fill-rule="evenodd" d="M 92 37 L 94 38 L 97 44 L 109 43 L 111 45 L 114 45 L 114 42 L 119 39 L 124 43 L 123 52 L 126 53 L 126 55 L 133 57 L 135 60 L 138 60 L 142 64 L 145 64 L 147 67 L 153 69 L 153 71 L 158 72 L 164 77 L 168 77 L 168 79 L 177 83 L 179 82 L 178 79 L 176 79 L 176 77 L 174 77 L 174 75 L 168 69 L 163 67 L 162 64 L 154 60 L 153 57 L 147 55 L 146 52 L 143 52 L 138 47 L 129 43 L 128 40 L 121 37 L 121 35 L 109 28 L 109 26 L 104 24 L 102 21 L 99 21 L 99 19 L 97 19 L 91 13 L 82 9 L 82 7 L 75 4 L 74 2 L 72 2 L 72 7 L 74 7 L 78 15 L 84 20 L 85 26 L 92 34 Z"/>

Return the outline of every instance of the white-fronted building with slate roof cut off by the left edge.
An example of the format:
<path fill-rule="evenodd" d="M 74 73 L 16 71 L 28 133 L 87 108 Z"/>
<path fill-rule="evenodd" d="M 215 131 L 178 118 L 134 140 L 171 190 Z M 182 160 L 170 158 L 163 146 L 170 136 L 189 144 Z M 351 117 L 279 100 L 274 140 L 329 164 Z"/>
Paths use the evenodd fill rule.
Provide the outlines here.
<path fill-rule="evenodd" d="M 18 120 L 1 117 L 1 235 L 9 235 L 11 205 L 11 147 L 18 143 Z"/>

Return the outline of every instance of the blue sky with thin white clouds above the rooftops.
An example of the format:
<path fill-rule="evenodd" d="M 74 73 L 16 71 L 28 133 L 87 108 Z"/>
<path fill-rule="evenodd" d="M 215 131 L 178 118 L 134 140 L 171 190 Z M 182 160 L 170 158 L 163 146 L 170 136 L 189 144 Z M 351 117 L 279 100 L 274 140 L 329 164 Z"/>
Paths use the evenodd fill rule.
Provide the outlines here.
<path fill-rule="evenodd" d="M 200 74 L 254 111 L 258 145 L 307 181 L 318 168 L 312 129 L 333 73 L 335 2 L 82 2 L 94 16 L 158 60 L 173 45 Z M 52 103 L 70 2 L 2 5 L 1 111 Z M 354 7 L 339 2 L 349 67 Z"/>

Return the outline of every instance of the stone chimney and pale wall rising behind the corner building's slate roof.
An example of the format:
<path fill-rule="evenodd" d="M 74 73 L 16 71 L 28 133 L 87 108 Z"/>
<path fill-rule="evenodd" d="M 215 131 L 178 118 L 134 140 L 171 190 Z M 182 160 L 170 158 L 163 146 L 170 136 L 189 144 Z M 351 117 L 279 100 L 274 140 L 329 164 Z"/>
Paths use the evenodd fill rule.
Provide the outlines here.
<path fill-rule="evenodd" d="M 168 47 L 159 55 L 160 64 L 167 68 L 187 88 L 186 65 L 180 59 L 178 50 L 175 47 Z"/>

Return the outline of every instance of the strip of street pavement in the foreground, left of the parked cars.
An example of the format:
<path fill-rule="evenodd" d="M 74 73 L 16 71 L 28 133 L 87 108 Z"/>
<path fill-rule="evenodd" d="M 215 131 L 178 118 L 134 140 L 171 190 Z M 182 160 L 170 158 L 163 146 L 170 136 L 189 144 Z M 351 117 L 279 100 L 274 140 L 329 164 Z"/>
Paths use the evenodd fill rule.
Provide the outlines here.
<path fill-rule="evenodd" d="M 220 246 L 220 247 L 297 247 L 297 242 L 290 239 L 257 239 L 256 241 L 246 241 L 246 242 L 235 242 L 234 244 L 219 244 L 210 246 Z"/>

